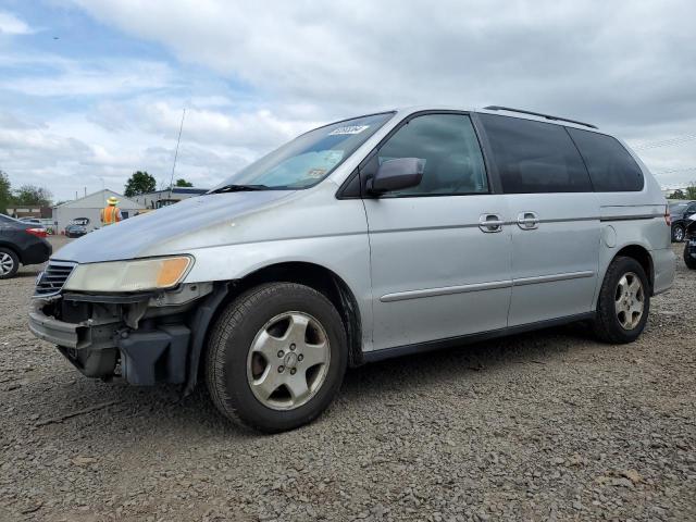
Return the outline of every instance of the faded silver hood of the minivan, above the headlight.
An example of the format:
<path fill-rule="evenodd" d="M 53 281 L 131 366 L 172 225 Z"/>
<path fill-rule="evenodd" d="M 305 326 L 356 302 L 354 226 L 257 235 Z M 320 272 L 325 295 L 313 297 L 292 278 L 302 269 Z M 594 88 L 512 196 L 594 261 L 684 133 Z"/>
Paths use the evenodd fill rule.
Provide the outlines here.
<path fill-rule="evenodd" d="M 275 207 L 293 194 L 259 190 L 185 199 L 87 234 L 61 248 L 52 259 L 95 263 L 234 243 L 234 222 Z M 201 245 L 202 238 L 207 245 Z"/>

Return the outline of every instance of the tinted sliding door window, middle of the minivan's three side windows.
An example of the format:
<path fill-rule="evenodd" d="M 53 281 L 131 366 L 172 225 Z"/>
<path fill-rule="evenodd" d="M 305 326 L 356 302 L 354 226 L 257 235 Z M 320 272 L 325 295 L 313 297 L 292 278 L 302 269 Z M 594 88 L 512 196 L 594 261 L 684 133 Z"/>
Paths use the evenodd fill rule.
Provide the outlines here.
<path fill-rule="evenodd" d="M 560 125 L 480 115 L 506 194 L 592 192 L 577 149 Z"/>

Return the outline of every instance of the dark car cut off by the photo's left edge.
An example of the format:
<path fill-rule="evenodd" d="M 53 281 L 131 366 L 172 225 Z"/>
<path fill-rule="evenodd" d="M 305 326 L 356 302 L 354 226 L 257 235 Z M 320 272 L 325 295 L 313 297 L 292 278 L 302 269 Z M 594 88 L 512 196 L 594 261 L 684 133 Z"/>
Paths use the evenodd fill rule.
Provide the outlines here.
<path fill-rule="evenodd" d="M 14 276 L 21 264 L 48 261 L 53 249 L 46 237 L 46 228 L 0 214 L 0 279 Z"/>

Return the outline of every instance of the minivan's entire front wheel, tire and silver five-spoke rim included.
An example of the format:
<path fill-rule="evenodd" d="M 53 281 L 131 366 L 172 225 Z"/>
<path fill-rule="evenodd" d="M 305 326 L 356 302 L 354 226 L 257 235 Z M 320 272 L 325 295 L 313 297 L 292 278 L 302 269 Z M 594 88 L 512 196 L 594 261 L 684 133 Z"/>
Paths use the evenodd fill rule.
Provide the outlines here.
<path fill-rule="evenodd" d="M 262 432 L 313 421 L 334 399 L 348 363 L 331 301 L 295 283 L 270 283 L 222 312 L 208 344 L 206 381 L 217 409 Z"/>

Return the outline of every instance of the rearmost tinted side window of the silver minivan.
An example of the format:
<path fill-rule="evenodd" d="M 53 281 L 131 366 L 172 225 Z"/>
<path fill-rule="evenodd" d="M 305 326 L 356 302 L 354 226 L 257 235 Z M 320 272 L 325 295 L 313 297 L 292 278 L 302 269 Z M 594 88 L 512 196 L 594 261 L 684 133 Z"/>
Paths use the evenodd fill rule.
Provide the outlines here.
<path fill-rule="evenodd" d="M 643 189 L 643 173 L 629 151 L 611 136 L 579 128 L 568 132 L 585 160 L 597 192 L 624 192 Z"/>

